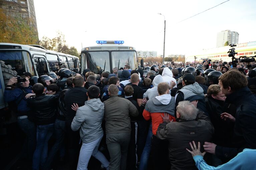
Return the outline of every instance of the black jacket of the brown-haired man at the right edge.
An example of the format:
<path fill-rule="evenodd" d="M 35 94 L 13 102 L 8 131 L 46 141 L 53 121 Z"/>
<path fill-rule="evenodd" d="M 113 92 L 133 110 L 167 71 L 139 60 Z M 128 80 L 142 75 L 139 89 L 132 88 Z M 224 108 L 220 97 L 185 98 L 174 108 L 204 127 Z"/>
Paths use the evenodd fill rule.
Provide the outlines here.
<path fill-rule="evenodd" d="M 236 105 L 236 122 L 231 147 L 216 146 L 218 158 L 235 157 L 244 148 L 256 149 L 256 97 L 248 87 L 243 87 L 226 98 L 226 103 Z"/>

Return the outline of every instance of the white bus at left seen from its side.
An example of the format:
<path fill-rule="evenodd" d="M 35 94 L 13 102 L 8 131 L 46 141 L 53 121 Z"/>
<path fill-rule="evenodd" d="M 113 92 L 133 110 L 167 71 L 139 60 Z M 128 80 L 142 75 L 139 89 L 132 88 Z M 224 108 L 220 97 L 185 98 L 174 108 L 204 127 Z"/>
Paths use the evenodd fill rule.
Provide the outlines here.
<path fill-rule="evenodd" d="M 47 50 L 38 45 L 0 43 L 0 62 L 0 111 L 8 106 L 4 102 L 3 92 L 9 79 L 14 76 L 29 72 L 32 76 L 39 77 L 60 68 L 80 72 L 78 57 Z"/>

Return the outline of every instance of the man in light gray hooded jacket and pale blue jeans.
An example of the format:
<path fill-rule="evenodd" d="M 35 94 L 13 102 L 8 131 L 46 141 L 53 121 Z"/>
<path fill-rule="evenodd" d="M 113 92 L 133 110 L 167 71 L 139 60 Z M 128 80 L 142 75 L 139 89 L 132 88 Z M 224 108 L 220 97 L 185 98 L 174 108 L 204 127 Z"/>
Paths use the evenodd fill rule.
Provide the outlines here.
<path fill-rule="evenodd" d="M 79 107 L 72 121 L 71 129 L 76 131 L 80 128 L 82 147 L 80 149 L 77 170 L 87 170 L 87 165 L 91 155 L 98 159 L 104 168 L 108 170 L 108 160 L 98 151 L 98 147 L 103 137 L 101 122 L 104 117 L 104 104 L 100 101 L 100 90 L 96 85 L 88 88 L 86 93 L 88 100 Z"/>

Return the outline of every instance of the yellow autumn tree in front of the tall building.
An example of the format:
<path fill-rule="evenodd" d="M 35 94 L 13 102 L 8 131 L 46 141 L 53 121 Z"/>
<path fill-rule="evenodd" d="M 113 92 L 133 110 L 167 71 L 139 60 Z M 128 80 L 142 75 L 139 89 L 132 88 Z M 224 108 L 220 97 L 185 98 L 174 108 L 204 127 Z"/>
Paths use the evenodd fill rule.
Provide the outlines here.
<path fill-rule="evenodd" d="M 38 44 L 38 33 L 31 19 L 21 15 L 7 15 L 0 8 L 0 42 L 17 44 Z"/>

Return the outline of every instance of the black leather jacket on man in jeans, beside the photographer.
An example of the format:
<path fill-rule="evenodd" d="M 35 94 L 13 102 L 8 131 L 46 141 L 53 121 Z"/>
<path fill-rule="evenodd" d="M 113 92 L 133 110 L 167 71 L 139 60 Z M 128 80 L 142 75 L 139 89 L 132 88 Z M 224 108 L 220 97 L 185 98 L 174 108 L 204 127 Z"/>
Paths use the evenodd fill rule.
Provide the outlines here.
<path fill-rule="evenodd" d="M 55 121 L 55 112 L 58 97 L 54 95 L 40 94 L 28 99 L 28 107 L 37 125 L 51 124 Z"/>

